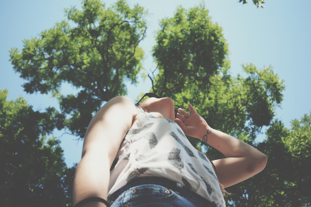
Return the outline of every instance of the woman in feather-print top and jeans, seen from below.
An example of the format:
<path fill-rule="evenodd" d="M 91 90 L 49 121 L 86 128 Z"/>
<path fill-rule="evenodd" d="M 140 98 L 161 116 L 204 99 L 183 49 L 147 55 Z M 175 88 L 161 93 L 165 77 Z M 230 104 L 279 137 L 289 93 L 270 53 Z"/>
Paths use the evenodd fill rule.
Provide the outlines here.
<path fill-rule="evenodd" d="M 264 169 L 266 155 L 212 129 L 190 104 L 190 113 L 176 113 L 172 99 L 145 96 L 138 107 L 115 97 L 91 120 L 76 169 L 75 206 L 225 206 L 219 184 L 229 187 Z M 185 134 L 226 158 L 211 163 Z"/>

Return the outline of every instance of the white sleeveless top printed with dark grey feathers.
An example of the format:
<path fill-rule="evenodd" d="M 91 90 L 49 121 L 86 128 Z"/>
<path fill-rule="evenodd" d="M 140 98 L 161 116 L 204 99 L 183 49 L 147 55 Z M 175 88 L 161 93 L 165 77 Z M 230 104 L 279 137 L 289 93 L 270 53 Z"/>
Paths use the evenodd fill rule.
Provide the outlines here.
<path fill-rule="evenodd" d="M 110 169 L 108 195 L 148 174 L 178 182 L 216 206 L 225 206 L 211 162 L 192 146 L 179 125 L 140 107 L 138 111 Z"/>

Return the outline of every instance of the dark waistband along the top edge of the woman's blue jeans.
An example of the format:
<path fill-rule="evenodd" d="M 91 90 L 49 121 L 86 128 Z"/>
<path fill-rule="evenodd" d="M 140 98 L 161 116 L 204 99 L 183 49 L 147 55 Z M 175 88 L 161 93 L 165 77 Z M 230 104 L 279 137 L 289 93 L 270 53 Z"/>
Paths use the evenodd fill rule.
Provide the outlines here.
<path fill-rule="evenodd" d="M 171 189 L 171 190 L 175 191 L 176 193 L 179 193 L 182 196 L 191 197 L 191 198 L 194 198 L 196 200 L 201 200 L 202 202 L 204 202 L 206 204 L 211 203 L 211 201 L 209 201 L 206 198 L 200 196 L 199 194 L 189 190 L 184 185 L 182 185 L 178 182 L 174 182 L 174 181 L 169 180 L 167 178 L 153 177 L 153 176 L 139 177 L 139 178 L 133 179 L 132 181 L 128 182 L 125 186 L 121 187 L 120 189 L 118 189 L 117 191 L 112 193 L 108 197 L 108 202 L 109 203 L 111 203 L 111 201 L 113 202 L 124 191 L 127 191 L 128 189 L 130 189 L 132 187 L 136 187 L 136 186 L 140 186 L 140 185 L 146 185 L 146 184 L 160 185 L 160 186 L 166 187 L 168 189 Z"/>

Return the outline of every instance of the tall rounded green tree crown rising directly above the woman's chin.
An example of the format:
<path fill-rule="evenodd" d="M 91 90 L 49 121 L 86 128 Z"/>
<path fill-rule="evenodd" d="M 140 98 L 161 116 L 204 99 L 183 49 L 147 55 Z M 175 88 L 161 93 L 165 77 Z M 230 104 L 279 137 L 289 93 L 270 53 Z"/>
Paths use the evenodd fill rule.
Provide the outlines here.
<path fill-rule="evenodd" d="M 154 89 L 173 98 L 184 87 L 207 87 L 228 53 L 221 27 L 211 22 L 203 3 L 188 11 L 178 7 L 174 17 L 161 20 L 156 43 L 153 56 L 159 74 Z"/>

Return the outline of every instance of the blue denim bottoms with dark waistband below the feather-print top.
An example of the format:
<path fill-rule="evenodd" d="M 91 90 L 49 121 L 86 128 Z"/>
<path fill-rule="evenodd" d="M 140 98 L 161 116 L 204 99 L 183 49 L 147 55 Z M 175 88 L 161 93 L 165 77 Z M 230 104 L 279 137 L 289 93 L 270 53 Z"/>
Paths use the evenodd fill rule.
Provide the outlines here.
<path fill-rule="evenodd" d="M 110 207 L 216 207 L 180 183 L 160 177 L 140 177 L 108 197 Z"/>

